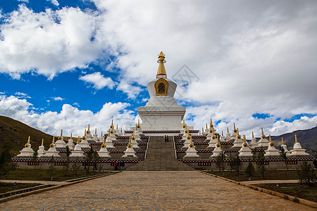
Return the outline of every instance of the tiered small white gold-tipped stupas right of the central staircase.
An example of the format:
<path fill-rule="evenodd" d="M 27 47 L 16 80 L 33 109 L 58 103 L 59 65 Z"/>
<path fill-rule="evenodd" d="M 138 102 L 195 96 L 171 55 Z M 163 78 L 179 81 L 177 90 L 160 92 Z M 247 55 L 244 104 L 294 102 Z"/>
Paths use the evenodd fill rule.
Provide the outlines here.
<path fill-rule="evenodd" d="M 226 136 L 221 136 L 221 141 L 225 142 L 233 142 L 232 149 L 240 149 L 239 156 L 242 158 L 250 158 L 253 156 L 251 149 L 254 148 L 263 148 L 265 149 L 265 157 L 276 157 L 280 156 L 281 151 L 276 149 L 274 146 L 274 143 L 271 140 L 271 135 L 269 135 L 269 140 L 266 139 L 266 136 L 263 134 L 263 128 L 261 128 L 262 136 L 261 139 L 257 142 L 254 138 L 254 134 L 252 132 L 252 139 L 251 142 L 248 143 L 245 139 L 245 135 L 243 136 L 243 139 L 241 139 L 241 136 L 239 134 L 239 129 L 235 128 L 235 123 L 233 123 L 233 133 L 229 133 L 229 129 L 227 127 L 227 134 Z M 204 131 L 204 128 L 203 128 Z M 192 136 L 189 134 L 189 130 L 187 129 L 187 125 L 185 124 L 185 121 L 183 121 L 182 129 L 182 139 L 181 141 L 184 141 L 184 146 L 182 147 L 182 150 L 186 150 L 186 155 L 184 158 L 199 158 L 199 155 L 197 155 L 196 147 L 194 146 L 194 143 L 192 142 Z M 210 122 L 209 129 L 206 128 L 206 131 L 204 134 L 206 134 L 205 141 L 209 141 L 209 146 L 207 146 L 207 149 L 213 148 L 213 154 L 210 156 L 210 158 L 217 158 L 218 155 L 220 155 L 221 152 L 223 152 L 223 148 L 221 148 L 221 144 L 219 141 L 219 135 L 216 135 L 216 129 L 213 127 L 212 121 Z M 294 157 L 294 156 L 307 156 L 309 155 L 306 153 L 305 149 L 302 148 L 301 144 L 297 141 L 297 135 L 295 134 L 295 143 L 293 146 L 293 149 L 291 151 L 287 150 L 287 146 L 284 144 L 284 141 L 282 139 L 282 148 L 284 149 L 287 157 Z"/>

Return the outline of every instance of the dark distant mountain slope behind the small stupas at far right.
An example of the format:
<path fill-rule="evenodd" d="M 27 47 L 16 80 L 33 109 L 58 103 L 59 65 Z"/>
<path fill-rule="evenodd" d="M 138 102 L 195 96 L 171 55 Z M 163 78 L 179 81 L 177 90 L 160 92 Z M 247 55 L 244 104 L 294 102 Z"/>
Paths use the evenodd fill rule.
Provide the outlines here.
<path fill-rule="evenodd" d="M 271 139 L 275 143 L 275 146 L 280 146 L 283 138 L 287 148 L 292 149 L 295 142 L 295 134 L 297 135 L 297 141 L 301 144 L 302 148 L 306 148 L 307 153 L 311 153 L 312 149 L 317 149 L 317 127 L 297 130 L 280 136 L 271 136 Z"/>

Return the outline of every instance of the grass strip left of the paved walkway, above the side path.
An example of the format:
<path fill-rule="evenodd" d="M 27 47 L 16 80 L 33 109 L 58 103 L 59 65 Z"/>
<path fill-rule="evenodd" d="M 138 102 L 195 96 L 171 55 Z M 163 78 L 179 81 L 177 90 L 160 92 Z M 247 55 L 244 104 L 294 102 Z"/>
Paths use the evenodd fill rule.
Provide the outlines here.
<path fill-rule="evenodd" d="M 68 174 L 66 175 L 63 170 L 54 170 L 53 181 L 66 181 L 68 179 L 76 179 L 81 177 L 88 177 L 96 174 L 102 174 L 104 172 L 89 172 L 80 171 L 77 175 Z M 32 180 L 32 181 L 51 181 L 48 170 L 35 170 L 35 169 L 15 169 L 0 179 L 10 180 Z"/>

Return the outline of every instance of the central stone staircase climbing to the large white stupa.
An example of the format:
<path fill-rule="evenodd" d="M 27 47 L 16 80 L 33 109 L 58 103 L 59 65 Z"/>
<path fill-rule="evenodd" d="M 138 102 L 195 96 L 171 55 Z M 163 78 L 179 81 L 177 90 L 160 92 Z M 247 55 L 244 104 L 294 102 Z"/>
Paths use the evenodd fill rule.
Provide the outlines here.
<path fill-rule="evenodd" d="M 171 137 L 170 137 L 171 138 Z M 194 171 L 192 167 L 175 158 L 173 141 L 165 142 L 163 136 L 151 136 L 147 158 L 127 169 L 128 171 Z"/>

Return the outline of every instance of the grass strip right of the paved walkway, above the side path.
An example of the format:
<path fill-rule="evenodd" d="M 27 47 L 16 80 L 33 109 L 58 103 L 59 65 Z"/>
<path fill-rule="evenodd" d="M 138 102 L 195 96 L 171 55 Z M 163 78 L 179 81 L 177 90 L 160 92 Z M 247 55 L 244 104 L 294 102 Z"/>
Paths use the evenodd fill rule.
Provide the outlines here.
<path fill-rule="evenodd" d="M 227 179 L 232 179 L 235 181 L 248 181 L 251 180 L 287 180 L 287 179 L 298 179 L 296 170 L 267 170 L 265 177 L 263 178 L 260 172 L 255 171 L 253 177 L 249 177 L 244 171 L 241 171 L 240 174 L 236 172 L 219 172 L 219 171 L 206 171 L 207 173 L 217 175 L 218 177 L 225 177 Z"/>

